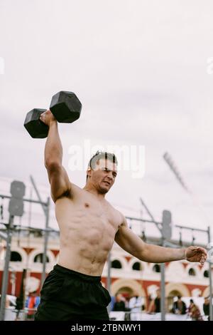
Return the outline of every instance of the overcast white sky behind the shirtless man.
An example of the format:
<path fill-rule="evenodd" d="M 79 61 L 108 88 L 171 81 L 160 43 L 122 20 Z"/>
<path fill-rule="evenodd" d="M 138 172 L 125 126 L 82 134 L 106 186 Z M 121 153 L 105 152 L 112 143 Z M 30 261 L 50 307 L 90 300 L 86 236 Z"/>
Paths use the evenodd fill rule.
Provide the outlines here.
<path fill-rule="evenodd" d="M 138 217 L 142 197 L 158 220 L 167 209 L 175 224 L 212 225 L 212 10 L 210 0 L 1 0 L 0 192 L 31 174 L 48 194 L 45 140 L 33 140 L 23 121 L 28 110 L 48 108 L 54 93 L 74 91 L 82 115 L 60 125 L 60 135 L 75 184 L 84 186 L 85 172 L 69 170 L 71 145 L 144 145 L 144 177 L 121 170 L 107 200 Z"/>

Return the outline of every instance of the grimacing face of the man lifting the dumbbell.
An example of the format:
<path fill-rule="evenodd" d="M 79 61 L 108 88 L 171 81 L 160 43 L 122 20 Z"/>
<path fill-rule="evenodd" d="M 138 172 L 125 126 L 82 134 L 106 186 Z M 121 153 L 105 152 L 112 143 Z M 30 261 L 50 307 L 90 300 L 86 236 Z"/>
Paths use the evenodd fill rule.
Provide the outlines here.
<path fill-rule="evenodd" d="M 116 163 L 104 158 L 97 161 L 93 170 L 88 170 L 90 181 L 99 190 L 100 193 L 107 193 L 114 184 L 117 168 Z"/>

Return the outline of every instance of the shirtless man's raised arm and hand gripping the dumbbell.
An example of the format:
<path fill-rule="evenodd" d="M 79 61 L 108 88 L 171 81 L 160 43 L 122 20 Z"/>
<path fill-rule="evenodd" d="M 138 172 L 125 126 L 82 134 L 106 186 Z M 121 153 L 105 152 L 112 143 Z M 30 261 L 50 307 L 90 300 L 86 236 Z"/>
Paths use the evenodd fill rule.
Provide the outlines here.
<path fill-rule="evenodd" d="M 63 195 L 70 195 L 71 183 L 65 168 L 62 167 L 62 145 L 58 133 L 58 123 L 55 117 L 46 110 L 40 115 L 40 120 L 49 126 L 48 138 L 45 144 L 45 168 L 51 187 L 53 201 Z"/>

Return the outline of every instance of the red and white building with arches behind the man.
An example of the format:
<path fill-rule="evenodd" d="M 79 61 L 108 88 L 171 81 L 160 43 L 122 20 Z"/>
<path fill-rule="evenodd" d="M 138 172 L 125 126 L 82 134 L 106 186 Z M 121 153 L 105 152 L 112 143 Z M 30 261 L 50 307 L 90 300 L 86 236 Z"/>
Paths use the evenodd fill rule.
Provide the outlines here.
<path fill-rule="evenodd" d="M 19 242 L 18 242 L 19 241 Z M 4 271 L 5 242 L 1 242 L 0 252 L 0 286 Z M 28 269 L 26 291 L 33 292 L 40 289 L 40 278 L 43 260 L 43 237 L 13 237 L 11 244 L 11 262 L 9 273 L 8 294 L 18 296 L 21 287 L 23 269 Z M 46 272 L 51 271 L 58 262 L 58 236 L 49 237 L 48 262 Z M 106 263 L 102 274 L 102 283 L 107 286 Z M 201 267 L 198 263 L 177 261 L 165 264 L 165 296 L 168 309 L 173 297 L 206 297 L 209 294 L 209 267 Z M 111 250 L 111 296 L 117 292 L 131 295 L 138 292 L 144 297 L 144 304 L 148 304 L 148 297 L 155 295 L 160 287 L 160 265 L 141 262 L 121 249 L 116 243 Z"/>

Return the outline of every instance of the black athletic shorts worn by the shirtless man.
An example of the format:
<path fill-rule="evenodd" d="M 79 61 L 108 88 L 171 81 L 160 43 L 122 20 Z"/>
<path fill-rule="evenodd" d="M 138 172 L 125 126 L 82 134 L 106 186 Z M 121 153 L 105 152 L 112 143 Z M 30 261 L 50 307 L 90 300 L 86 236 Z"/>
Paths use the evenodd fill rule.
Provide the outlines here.
<path fill-rule="evenodd" d="M 107 306 L 110 301 L 101 277 L 56 264 L 40 291 L 35 321 L 109 320 Z"/>

